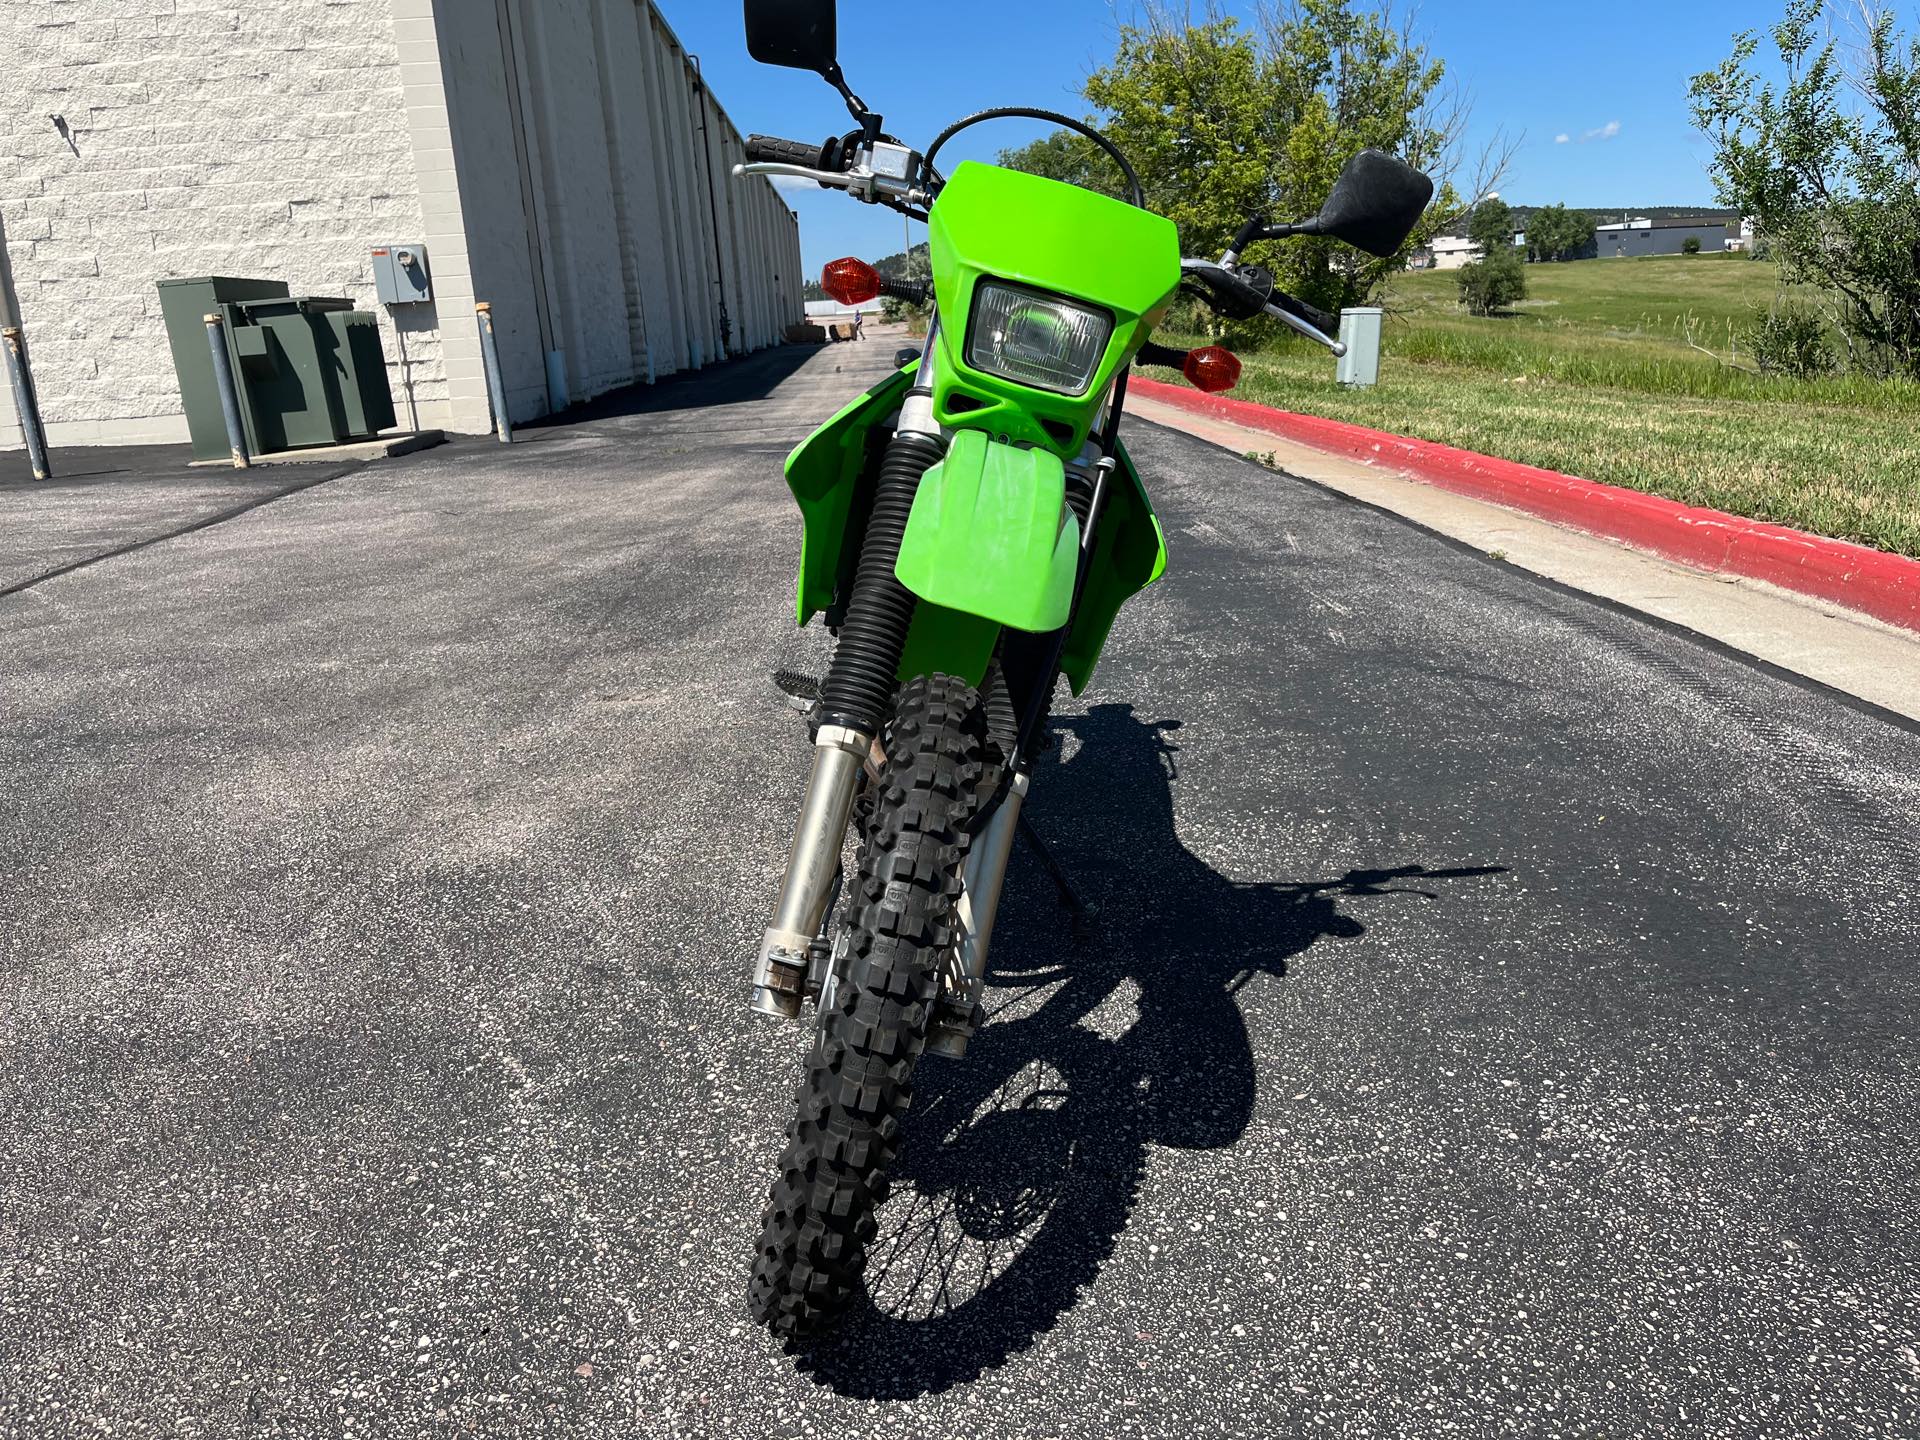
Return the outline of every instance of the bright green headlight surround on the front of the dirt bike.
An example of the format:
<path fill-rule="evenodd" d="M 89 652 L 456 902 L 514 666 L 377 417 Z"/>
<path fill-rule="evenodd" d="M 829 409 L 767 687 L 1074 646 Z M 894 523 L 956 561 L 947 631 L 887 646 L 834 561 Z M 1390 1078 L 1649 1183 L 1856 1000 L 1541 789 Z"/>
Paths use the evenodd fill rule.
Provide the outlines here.
<path fill-rule="evenodd" d="M 1173 221 L 1092 190 L 966 161 L 927 217 L 941 307 L 941 424 L 985 430 L 1071 459 L 1114 374 L 1165 319 L 1181 282 Z M 1114 317 L 1114 336 L 1083 396 L 1056 396 L 968 367 L 973 288 L 1012 280 L 1083 300 Z M 1052 422 L 1048 426 L 1046 422 Z"/>

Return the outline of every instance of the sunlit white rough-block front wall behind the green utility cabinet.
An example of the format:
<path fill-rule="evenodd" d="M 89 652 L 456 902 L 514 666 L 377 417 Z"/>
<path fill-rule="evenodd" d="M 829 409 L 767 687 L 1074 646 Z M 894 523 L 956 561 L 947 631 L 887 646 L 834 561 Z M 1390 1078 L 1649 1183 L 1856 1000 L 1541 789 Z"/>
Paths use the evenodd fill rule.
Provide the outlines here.
<path fill-rule="evenodd" d="M 392 0 L 4 0 L 0 56 L 0 230 L 54 444 L 186 438 L 156 280 L 378 309 L 371 248 L 424 238 Z M 401 313 L 420 422 L 442 424 L 436 317 Z"/>

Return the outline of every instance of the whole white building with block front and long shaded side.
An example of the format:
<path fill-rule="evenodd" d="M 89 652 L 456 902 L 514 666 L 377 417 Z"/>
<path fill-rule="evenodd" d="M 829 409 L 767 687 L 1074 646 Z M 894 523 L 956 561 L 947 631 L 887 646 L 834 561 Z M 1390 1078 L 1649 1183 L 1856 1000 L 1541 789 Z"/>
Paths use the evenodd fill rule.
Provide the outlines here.
<path fill-rule="evenodd" d="M 186 438 L 163 278 L 349 296 L 401 424 L 465 432 L 476 300 L 515 420 L 803 313 L 797 221 L 732 179 L 741 136 L 653 0 L 4 0 L 0 56 L 0 311 L 56 445 Z M 382 244 L 426 248 L 428 303 L 376 305 Z"/>

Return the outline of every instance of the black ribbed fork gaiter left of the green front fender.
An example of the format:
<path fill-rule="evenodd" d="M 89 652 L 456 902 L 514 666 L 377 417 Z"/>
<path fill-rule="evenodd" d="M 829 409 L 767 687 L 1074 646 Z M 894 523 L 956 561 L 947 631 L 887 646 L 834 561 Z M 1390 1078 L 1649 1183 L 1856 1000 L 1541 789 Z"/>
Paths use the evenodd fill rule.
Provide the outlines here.
<path fill-rule="evenodd" d="M 820 720 L 877 735 L 893 708 L 893 680 L 914 620 L 914 597 L 893 574 L 920 476 L 941 459 L 931 436 L 902 430 L 887 444 L 874 486 L 874 513 L 847 601 L 833 664 L 820 687 Z"/>

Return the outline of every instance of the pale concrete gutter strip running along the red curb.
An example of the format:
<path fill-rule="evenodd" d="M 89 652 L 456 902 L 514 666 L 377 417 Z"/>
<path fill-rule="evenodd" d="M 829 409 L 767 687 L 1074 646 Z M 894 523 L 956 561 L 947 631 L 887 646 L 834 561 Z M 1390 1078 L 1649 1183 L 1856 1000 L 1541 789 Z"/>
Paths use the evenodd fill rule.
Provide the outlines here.
<path fill-rule="evenodd" d="M 1390 511 L 1507 564 L 1703 636 L 1880 710 L 1920 720 L 1920 634 L 1761 580 L 1676 564 L 1617 540 L 1442 490 L 1379 457 L 1350 459 L 1273 428 L 1169 405 L 1160 399 L 1164 390 L 1167 386 L 1135 376 L 1127 413 L 1242 455 L 1271 457 L 1286 474 Z"/>

